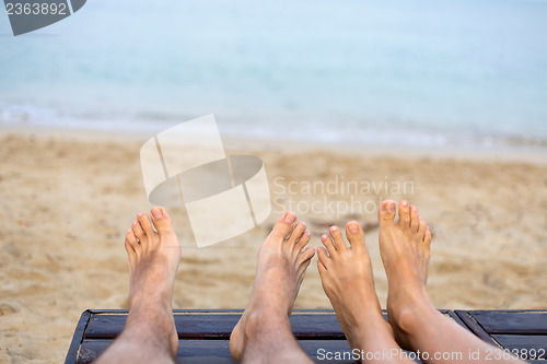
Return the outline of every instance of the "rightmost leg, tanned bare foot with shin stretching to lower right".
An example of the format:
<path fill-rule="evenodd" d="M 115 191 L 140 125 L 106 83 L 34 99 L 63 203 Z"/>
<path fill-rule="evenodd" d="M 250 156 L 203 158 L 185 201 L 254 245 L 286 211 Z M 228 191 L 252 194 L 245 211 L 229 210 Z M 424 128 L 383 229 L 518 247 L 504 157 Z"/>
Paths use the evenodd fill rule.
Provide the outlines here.
<path fill-rule="evenodd" d="M 399 220 L 394 221 L 396 203 L 386 200 L 379 212 L 380 253 L 388 280 L 387 312 L 395 338 L 414 351 L 447 353 L 450 360 L 424 360 L 426 363 L 491 363 L 487 344 L 453 320 L 440 314 L 429 301 L 426 283 L 430 257 L 431 233 L 407 201 L 399 204 Z M 469 352 L 479 352 L 470 359 Z M 461 356 L 459 356 L 461 355 Z M 523 363 L 516 357 L 498 363 Z"/>

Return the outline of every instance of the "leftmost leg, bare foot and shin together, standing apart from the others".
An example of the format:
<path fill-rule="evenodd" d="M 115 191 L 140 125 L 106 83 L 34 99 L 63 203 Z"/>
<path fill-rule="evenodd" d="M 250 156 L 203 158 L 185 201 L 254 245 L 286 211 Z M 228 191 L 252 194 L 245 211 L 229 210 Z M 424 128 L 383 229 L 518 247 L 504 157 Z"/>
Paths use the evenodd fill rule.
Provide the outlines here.
<path fill-rule="evenodd" d="M 181 246 L 162 208 L 152 222 L 139 213 L 126 235 L 131 268 L 129 315 L 121 334 L 97 363 L 174 363 L 178 337 L 173 319 L 173 285 Z"/>

